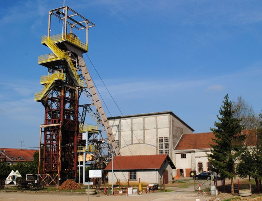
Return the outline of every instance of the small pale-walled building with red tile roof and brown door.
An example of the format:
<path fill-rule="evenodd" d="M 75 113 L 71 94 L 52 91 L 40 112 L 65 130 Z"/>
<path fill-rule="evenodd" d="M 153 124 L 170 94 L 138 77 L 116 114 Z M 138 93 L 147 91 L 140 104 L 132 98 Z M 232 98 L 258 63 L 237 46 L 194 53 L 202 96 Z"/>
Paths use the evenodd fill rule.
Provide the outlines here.
<path fill-rule="evenodd" d="M 115 156 L 113 161 L 114 184 L 172 183 L 174 163 L 167 154 Z M 112 161 L 105 168 L 112 184 Z"/>

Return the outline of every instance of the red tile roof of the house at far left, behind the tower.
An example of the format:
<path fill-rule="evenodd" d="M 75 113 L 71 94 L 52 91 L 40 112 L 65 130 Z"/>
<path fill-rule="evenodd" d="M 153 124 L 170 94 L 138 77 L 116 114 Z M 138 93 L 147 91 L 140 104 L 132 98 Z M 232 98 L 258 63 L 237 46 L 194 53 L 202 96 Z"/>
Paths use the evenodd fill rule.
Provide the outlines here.
<path fill-rule="evenodd" d="M 13 161 L 13 162 L 19 162 L 19 161 L 33 161 L 34 160 L 34 154 L 38 150 L 29 150 L 29 149 L 12 149 L 12 148 L 0 148 L 2 150 L 5 150 L 3 154 L 6 156 L 6 161 Z M 1 154 L 1 158 L 4 157 L 4 155 Z"/>

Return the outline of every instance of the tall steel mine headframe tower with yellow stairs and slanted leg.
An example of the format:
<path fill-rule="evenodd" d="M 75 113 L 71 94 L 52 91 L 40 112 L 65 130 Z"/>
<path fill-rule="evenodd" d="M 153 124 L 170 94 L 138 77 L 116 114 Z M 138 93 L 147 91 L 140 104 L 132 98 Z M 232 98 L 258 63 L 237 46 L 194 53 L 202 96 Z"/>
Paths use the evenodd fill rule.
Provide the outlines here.
<path fill-rule="evenodd" d="M 50 36 L 51 16 L 64 22 L 64 33 Z M 120 155 L 83 59 L 83 53 L 88 52 L 88 29 L 94 26 L 65 6 L 49 11 L 48 34 L 41 39 L 41 43 L 49 47 L 52 53 L 38 57 L 38 63 L 48 69 L 48 75 L 41 76 L 43 89 L 35 93 L 35 101 L 45 107 L 45 123 L 40 126 L 43 156 L 39 154 L 39 164 L 43 160 L 43 169 L 40 170 L 39 165 L 38 173 L 56 174 L 52 179 L 60 178 L 61 182 L 67 178 L 75 179 L 77 174 L 77 145 L 81 140 L 79 127 L 83 130 L 85 119 L 78 112 L 81 94 L 85 94 L 90 102 L 85 105 L 84 113 L 88 112 L 101 130 L 107 133 L 115 154 Z M 80 41 L 73 30 L 85 30 L 86 42 Z M 93 128 L 90 129 L 92 131 Z"/>

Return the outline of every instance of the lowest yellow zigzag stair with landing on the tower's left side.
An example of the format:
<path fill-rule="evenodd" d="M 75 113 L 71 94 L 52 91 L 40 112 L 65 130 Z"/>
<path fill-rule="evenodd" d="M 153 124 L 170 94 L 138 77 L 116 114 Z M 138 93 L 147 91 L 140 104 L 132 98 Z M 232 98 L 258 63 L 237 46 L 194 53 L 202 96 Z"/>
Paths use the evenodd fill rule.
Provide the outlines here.
<path fill-rule="evenodd" d="M 55 71 L 51 75 L 41 76 L 40 83 L 45 84 L 45 86 L 40 92 L 35 92 L 35 101 L 45 99 L 55 85 L 56 80 L 65 80 L 65 74 L 60 71 Z"/>

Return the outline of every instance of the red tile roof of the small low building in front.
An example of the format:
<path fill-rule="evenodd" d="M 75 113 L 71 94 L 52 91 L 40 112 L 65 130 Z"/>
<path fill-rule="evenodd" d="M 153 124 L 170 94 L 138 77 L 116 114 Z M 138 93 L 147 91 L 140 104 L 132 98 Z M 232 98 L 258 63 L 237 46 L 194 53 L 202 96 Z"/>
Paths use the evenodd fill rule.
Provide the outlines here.
<path fill-rule="evenodd" d="M 160 169 L 165 160 L 175 169 L 174 163 L 167 154 L 138 155 L 138 156 L 114 156 L 114 170 L 144 170 Z M 105 170 L 112 170 L 112 161 Z"/>

